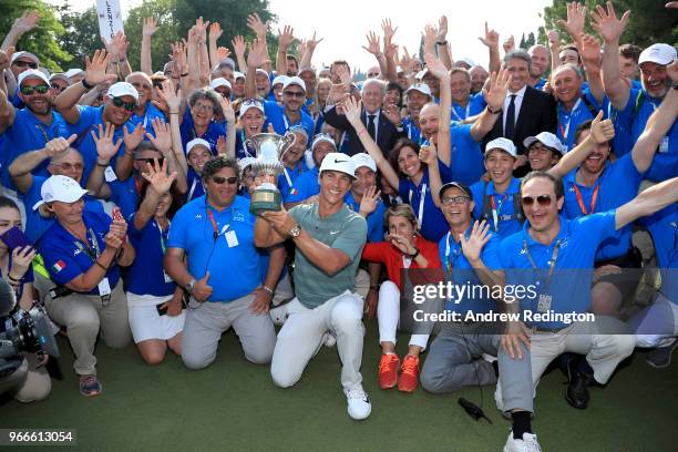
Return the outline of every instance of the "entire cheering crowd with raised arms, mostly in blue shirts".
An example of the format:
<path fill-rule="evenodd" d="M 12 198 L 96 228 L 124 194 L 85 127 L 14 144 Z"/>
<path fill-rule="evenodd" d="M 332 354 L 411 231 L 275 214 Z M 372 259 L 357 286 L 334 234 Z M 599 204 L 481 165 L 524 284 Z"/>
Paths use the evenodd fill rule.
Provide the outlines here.
<path fill-rule="evenodd" d="M 257 14 L 256 38 L 233 41 L 235 61 L 220 25 L 199 18 L 154 71 L 150 18 L 138 71 L 121 32 L 83 68 L 50 74 L 14 48 L 38 20 L 18 18 L 0 50 L 0 234 L 20 228 L 32 243 L 0 242 L 0 275 L 20 309 L 43 305 L 68 338 L 83 396 L 102 392 L 99 338 L 134 341 L 151 366 L 170 349 L 202 369 L 233 327 L 282 388 L 336 345 L 356 420 L 372 409 L 361 371 L 403 392 L 496 384 L 513 422 L 504 451 L 540 451 L 533 399 L 552 361 L 578 409 L 636 347 L 669 366 L 678 62 L 670 44 L 620 45 L 628 11 L 569 3 L 572 43 L 549 32 L 527 50 L 485 25 L 486 65 L 452 59 L 445 17 L 425 27 L 421 60 L 383 20 L 360 82 L 347 60 L 312 66 L 315 34 L 292 54 L 289 25 L 271 61 Z M 260 133 L 295 137 L 278 176 L 258 170 L 249 140 Z M 265 182 L 282 207 L 254 215 Z M 438 281 L 536 285 L 537 297 L 431 299 L 429 314 L 595 321 L 419 325 L 412 285 Z M 363 317 L 378 320 L 379 363 L 362 366 Z M 402 359 L 397 331 L 411 333 Z M 13 396 L 43 399 L 50 377 L 40 357 L 25 359 Z"/>

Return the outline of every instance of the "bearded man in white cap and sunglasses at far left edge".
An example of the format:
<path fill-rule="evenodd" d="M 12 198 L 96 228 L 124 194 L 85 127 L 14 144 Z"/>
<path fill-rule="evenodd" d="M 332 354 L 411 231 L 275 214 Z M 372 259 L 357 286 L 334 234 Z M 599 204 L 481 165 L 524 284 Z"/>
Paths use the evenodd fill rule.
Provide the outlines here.
<path fill-rule="evenodd" d="M 0 51 L 0 73 L 2 56 Z M 7 56 L 7 55 L 4 55 Z M 0 90 L 0 163 L 8 167 L 21 154 L 43 148 L 56 137 L 71 136 L 71 127 L 61 114 L 52 111 L 50 81 L 34 69 L 24 71 L 19 76 L 19 99 L 25 104 L 16 109 L 10 104 L 7 93 Z M 49 176 L 48 162 L 32 168 L 32 173 Z M 13 188 L 9 172 L 2 172 L 2 185 Z"/>

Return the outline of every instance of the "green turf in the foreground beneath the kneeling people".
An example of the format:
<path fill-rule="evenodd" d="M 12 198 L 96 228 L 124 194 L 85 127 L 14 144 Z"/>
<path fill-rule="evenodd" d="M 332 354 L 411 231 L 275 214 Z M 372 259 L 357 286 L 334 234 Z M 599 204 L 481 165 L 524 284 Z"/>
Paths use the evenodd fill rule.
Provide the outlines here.
<path fill-rule="evenodd" d="M 404 351 L 408 338 L 399 337 Z M 276 388 L 267 366 L 245 360 L 237 337 L 224 336 L 216 361 L 186 369 L 176 356 L 157 367 L 143 363 L 135 347 L 97 347 L 103 393 L 83 398 L 72 372 L 72 352 L 60 339 L 64 373 L 50 397 L 37 403 L 0 407 L 1 428 L 74 428 L 78 448 L 21 446 L 17 451 L 501 451 L 508 429 L 494 407 L 494 387 L 484 387 L 484 410 L 493 424 L 474 421 L 456 404 L 480 404 L 477 388 L 432 396 L 377 386 L 376 322 L 369 322 L 363 386 L 372 401 L 366 421 L 352 421 L 339 382 L 336 348 L 323 348 L 301 380 Z M 425 359 L 425 355 L 424 355 Z M 565 377 L 555 370 L 538 387 L 533 429 L 544 451 L 676 451 L 678 366 L 653 369 L 643 353 L 609 384 L 590 390 L 587 410 L 564 399 Z M 10 450 L 10 448 L 0 448 Z"/>

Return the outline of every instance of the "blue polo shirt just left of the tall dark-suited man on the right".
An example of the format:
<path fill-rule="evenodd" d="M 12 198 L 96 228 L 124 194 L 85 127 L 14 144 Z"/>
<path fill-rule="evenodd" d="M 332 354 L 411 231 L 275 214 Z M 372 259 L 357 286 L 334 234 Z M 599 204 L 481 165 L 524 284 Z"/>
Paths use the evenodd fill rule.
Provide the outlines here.
<path fill-rule="evenodd" d="M 483 152 L 480 143 L 471 136 L 472 124 L 463 124 L 456 121 L 450 126 L 452 181 L 464 185 L 475 184 L 483 173 Z"/>

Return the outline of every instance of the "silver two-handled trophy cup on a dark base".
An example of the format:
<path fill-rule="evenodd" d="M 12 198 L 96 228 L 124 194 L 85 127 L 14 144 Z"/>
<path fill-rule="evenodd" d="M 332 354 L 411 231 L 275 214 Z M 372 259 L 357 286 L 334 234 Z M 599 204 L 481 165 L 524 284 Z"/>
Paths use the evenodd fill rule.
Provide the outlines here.
<path fill-rule="evenodd" d="M 292 132 L 287 132 L 285 136 L 276 133 L 259 133 L 245 140 L 245 146 L 256 152 L 256 161 L 251 164 L 253 175 L 255 177 L 270 176 L 268 181 L 251 192 L 249 212 L 254 215 L 260 215 L 265 210 L 280 210 L 280 191 L 276 187 L 276 181 L 282 173 L 282 155 L 295 144 L 297 136 Z"/>

